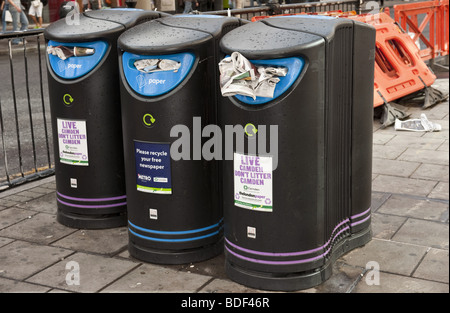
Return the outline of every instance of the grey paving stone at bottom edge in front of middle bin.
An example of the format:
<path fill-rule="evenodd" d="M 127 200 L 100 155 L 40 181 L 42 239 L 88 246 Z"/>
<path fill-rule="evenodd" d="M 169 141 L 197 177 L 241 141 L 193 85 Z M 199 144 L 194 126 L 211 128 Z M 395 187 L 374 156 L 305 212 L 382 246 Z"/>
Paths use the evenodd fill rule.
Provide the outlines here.
<path fill-rule="evenodd" d="M 210 276 L 183 273 L 170 268 L 142 264 L 102 292 L 197 292 Z"/>

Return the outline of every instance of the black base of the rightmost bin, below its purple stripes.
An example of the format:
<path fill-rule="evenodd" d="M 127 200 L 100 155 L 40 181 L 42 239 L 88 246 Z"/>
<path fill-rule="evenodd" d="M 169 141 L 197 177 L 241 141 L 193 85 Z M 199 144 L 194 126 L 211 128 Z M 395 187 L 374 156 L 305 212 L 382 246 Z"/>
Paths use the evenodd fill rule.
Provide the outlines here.
<path fill-rule="evenodd" d="M 241 266 L 236 266 L 236 264 L 233 264 L 228 259 L 226 259 L 225 262 L 225 270 L 227 276 L 231 280 L 255 289 L 270 291 L 296 291 L 308 289 L 320 285 L 330 278 L 335 260 L 350 250 L 365 245 L 371 239 L 372 230 L 370 227 L 342 239 L 333 248 L 333 252 L 323 266 L 308 272 L 285 273 L 284 275 L 280 273 L 271 274 L 257 272 Z"/>

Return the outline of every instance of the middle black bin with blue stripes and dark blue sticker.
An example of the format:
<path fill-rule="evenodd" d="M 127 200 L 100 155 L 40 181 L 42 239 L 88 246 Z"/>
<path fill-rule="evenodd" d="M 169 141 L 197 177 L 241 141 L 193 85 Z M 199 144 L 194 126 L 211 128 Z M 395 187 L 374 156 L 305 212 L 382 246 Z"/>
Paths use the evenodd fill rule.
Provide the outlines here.
<path fill-rule="evenodd" d="M 202 157 L 201 131 L 217 123 L 218 41 L 240 23 L 180 15 L 119 37 L 129 252 L 137 259 L 181 264 L 223 251 L 219 164 Z"/>

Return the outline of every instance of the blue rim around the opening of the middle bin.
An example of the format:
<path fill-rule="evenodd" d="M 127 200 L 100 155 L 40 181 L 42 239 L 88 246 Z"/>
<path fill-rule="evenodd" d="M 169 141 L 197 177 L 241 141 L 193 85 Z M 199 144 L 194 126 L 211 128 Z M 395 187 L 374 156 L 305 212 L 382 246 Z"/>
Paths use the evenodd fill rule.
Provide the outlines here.
<path fill-rule="evenodd" d="M 160 71 L 143 73 L 136 69 L 134 62 L 142 59 L 168 59 L 181 63 L 178 71 Z M 123 72 L 128 85 L 135 92 L 146 97 L 160 96 L 177 87 L 189 74 L 195 55 L 183 52 L 167 55 L 138 55 L 124 52 L 122 55 Z"/>

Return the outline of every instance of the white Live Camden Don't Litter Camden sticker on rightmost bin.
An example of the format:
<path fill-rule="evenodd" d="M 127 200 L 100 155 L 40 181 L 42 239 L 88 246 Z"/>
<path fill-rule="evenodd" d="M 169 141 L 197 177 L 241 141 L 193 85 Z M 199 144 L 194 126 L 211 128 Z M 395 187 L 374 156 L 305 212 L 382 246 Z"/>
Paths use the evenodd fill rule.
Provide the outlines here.
<path fill-rule="evenodd" d="M 234 153 L 234 205 L 272 212 L 272 157 Z"/>

